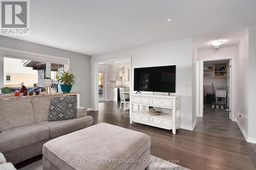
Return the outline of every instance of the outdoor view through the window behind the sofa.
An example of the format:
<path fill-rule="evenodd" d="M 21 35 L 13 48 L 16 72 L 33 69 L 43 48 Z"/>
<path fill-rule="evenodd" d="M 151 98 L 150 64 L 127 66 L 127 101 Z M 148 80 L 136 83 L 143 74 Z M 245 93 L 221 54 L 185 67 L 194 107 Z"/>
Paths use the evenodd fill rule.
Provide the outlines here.
<path fill-rule="evenodd" d="M 58 84 L 57 77 L 64 70 L 62 64 L 51 64 L 51 79 L 54 84 Z M 26 87 L 41 87 L 42 79 L 46 77 L 46 62 L 21 60 L 13 58 L 4 58 L 4 86 L 19 88 L 22 85 Z"/>

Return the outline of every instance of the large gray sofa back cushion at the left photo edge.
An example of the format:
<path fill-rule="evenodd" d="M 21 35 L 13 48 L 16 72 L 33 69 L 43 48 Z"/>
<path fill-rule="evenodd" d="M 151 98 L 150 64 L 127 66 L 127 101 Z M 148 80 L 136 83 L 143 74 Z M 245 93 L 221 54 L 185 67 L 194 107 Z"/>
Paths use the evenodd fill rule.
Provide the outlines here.
<path fill-rule="evenodd" d="M 33 124 L 34 116 L 30 101 L 31 96 L 0 98 L 0 129 L 5 131 Z"/>

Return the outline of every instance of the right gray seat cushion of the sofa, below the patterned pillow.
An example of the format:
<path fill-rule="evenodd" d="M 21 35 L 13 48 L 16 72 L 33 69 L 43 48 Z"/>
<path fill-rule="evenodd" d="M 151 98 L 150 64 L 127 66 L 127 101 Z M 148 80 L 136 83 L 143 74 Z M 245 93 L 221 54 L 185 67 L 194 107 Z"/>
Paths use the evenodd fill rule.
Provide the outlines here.
<path fill-rule="evenodd" d="M 60 120 L 54 122 L 39 122 L 38 125 L 46 126 L 50 130 L 50 138 L 59 137 L 68 133 L 91 126 L 92 116 L 74 118 L 70 120 Z"/>

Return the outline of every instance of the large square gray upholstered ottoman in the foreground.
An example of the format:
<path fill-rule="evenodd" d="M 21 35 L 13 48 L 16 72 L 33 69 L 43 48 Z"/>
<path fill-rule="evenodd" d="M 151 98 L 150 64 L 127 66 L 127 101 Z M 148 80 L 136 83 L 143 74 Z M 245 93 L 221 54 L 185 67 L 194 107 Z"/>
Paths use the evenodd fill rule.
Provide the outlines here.
<path fill-rule="evenodd" d="M 100 123 L 44 144 L 44 170 L 145 169 L 150 159 L 150 136 Z"/>

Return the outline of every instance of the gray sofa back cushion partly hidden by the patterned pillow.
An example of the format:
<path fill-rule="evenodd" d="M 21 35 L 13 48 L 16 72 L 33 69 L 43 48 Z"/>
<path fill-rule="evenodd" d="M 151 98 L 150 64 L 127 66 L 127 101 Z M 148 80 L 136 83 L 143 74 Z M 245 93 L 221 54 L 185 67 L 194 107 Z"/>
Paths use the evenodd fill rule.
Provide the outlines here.
<path fill-rule="evenodd" d="M 34 112 L 35 123 L 48 121 L 50 99 L 61 94 L 54 95 L 34 95 L 31 103 Z"/>

